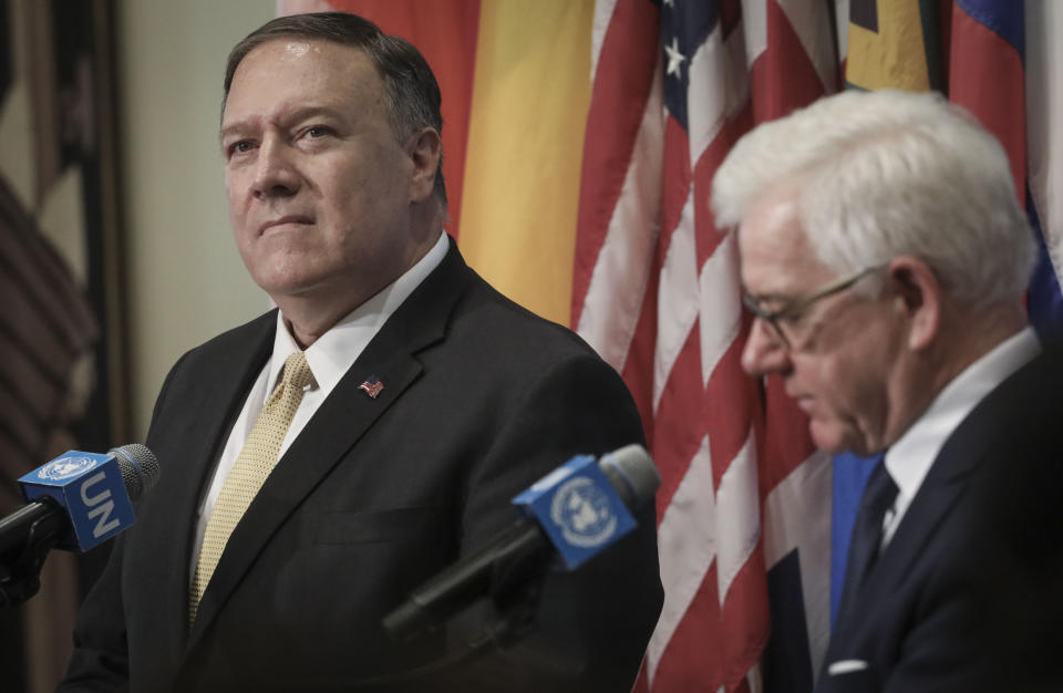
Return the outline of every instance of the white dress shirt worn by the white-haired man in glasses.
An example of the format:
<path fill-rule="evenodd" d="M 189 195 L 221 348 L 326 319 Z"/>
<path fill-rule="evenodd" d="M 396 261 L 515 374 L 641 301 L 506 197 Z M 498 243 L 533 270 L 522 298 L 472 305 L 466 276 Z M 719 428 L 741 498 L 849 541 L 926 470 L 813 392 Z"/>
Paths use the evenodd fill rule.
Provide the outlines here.
<path fill-rule="evenodd" d="M 930 407 L 886 452 L 886 470 L 897 484 L 897 499 L 883 525 L 885 549 L 935 458 L 952 432 L 997 385 L 1041 353 L 1041 343 L 1028 327 L 967 366 L 938 393 Z"/>

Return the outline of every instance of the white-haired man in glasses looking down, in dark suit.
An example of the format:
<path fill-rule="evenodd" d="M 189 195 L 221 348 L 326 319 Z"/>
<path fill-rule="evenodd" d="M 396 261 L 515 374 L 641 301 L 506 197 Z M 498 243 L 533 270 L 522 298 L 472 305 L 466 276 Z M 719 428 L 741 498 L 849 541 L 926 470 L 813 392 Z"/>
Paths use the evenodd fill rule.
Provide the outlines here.
<path fill-rule="evenodd" d="M 1063 360 L 1002 147 L 939 95 L 845 93 L 740 141 L 713 207 L 745 369 L 819 447 L 885 453 L 816 690 L 1063 690 Z"/>

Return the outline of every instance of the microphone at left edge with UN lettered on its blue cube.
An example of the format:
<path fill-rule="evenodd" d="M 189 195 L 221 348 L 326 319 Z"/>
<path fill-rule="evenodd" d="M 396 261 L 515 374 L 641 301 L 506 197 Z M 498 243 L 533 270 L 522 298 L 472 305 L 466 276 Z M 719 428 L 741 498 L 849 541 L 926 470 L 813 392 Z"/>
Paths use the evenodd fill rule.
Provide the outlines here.
<path fill-rule="evenodd" d="M 38 467 L 19 479 L 28 503 L 0 519 L 0 563 L 31 548 L 84 552 L 106 541 L 133 524 L 132 501 L 158 474 L 155 454 L 140 444 L 105 455 L 72 449 Z"/>

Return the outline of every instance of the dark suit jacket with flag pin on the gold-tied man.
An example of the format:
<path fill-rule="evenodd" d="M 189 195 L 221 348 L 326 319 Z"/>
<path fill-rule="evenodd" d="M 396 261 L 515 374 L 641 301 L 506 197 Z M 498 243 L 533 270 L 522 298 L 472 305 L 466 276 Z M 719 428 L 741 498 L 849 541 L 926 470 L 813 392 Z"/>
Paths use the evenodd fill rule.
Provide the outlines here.
<path fill-rule="evenodd" d="M 368 680 L 469 637 L 395 645 L 381 617 L 509 525 L 517 492 L 574 454 L 642 439 L 617 373 L 494 291 L 452 242 L 278 462 L 189 633 L 195 511 L 275 321 L 221 334 L 167 376 L 147 439 L 162 480 L 83 606 L 61 690 L 376 690 Z M 370 376 L 376 399 L 359 389 Z M 451 668 L 388 690 L 627 692 L 662 602 L 652 508 L 640 519 L 584 569 L 547 578 L 530 637 L 456 668 L 478 683 Z"/>

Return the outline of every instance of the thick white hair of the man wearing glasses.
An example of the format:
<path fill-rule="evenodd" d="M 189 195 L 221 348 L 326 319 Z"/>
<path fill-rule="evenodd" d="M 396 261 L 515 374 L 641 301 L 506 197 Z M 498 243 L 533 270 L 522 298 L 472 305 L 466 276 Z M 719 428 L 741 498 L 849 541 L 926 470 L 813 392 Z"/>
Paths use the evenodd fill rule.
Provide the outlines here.
<path fill-rule="evenodd" d="M 1036 246 L 1008 157 L 938 94 L 850 91 L 756 127 L 712 182 L 716 226 L 782 189 L 839 275 L 910 255 L 970 306 L 1015 300 L 1030 281 Z"/>

